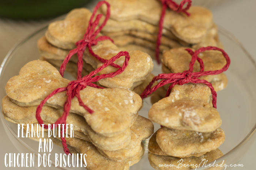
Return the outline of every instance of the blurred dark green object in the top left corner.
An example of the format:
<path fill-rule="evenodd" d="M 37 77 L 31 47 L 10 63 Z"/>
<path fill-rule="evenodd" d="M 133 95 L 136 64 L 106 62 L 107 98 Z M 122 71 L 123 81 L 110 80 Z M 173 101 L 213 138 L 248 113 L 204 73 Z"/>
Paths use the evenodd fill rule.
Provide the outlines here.
<path fill-rule="evenodd" d="M 1 0 L 0 17 L 45 19 L 83 7 L 91 0 Z"/>

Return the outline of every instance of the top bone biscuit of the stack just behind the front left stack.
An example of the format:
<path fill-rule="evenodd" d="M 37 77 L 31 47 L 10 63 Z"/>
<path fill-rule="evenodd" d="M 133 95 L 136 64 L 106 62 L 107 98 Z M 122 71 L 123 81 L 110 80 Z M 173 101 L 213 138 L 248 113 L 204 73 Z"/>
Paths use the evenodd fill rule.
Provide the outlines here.
<path fill-rule="evenodd" d="M 49 25 L 48 31 L 45 35 L 47 41 L 53 46 L 63 49 L 72 50 L 76 48 L 75 43 L 83 38 L 90 16 L 91 13 L 85 8 L 74 9 L 67 15 L 65 20 L 56 21 Z M 83 19 L 81 19 L 81 17 L 83 17 Z M 101 34 L 98 36 L 101 36 Z M 110 40 L 99 41 L 97 45 L 92 46 L 92 50 L 99 57 L 106 60 L 109 60 L 120 52 L 120 50 Z M 147 78 L 153 70 L 153 62 L 150 56 L 141 51 L 129 51 L 129 55 L 130 60 L 125 71 L 114 78 L 99 80 L 99 83 L 102 86 L 132 90 Z M 103 64 L 90 54 L 88 48 L 85 51 L 84 61 L 90 64 L 94 70 Z M 123 62 L 124 57 L 121 57 L 114 63 L 121 65 Z M 101 75 L 114 71 L 116 71 L 116 68 L 108 66 L 98 74 Z"/>

